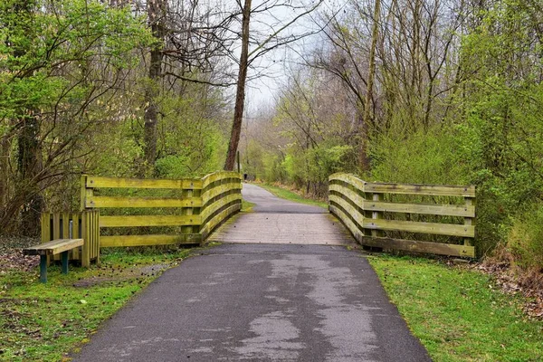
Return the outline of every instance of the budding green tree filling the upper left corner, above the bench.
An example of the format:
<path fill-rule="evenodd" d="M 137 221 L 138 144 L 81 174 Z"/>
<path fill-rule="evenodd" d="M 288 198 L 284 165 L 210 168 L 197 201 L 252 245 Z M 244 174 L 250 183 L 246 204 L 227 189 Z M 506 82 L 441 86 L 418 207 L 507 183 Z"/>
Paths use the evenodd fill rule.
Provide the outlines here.
<path fill-rule="evenodd" d="M 129 9 L 98 1 L 10 0 L 0 24 L 0 230 L 22 212 L 22 232 L 35 234 L 43 190 L 90 153 L 81 144 L 103 122 L 90 110 L 117 91 L 149 38 Z"/>

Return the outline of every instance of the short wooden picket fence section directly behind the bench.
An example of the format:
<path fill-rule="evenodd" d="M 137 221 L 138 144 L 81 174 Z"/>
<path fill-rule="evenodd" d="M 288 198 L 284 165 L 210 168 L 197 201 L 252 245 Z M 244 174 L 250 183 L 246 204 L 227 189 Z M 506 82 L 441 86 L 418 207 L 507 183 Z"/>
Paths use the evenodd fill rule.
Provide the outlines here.
<path fill-rule="evenodd" d="M 83 246 L 72 249 L 68 257 L 88 267 L 90 261 L 100 261 L 99 223 L 98 211 L 42 213 L 42 243 L 55 239 L 84 239 Z M 60 258 L 61 255 L 54 256 L 54 260 Z"/>

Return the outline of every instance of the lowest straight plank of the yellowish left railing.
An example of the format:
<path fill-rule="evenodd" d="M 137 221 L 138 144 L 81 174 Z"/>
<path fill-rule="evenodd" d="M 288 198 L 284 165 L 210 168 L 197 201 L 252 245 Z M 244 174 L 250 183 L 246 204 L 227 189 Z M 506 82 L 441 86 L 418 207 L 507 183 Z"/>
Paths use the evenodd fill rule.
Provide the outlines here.
<path fill-rule="evenodd" d="M 100 246 L 102 248 L 118 246 L 152 246 L 176 243 L 200 243 L 201 241 L 202 235 L 199 233 L 179 235 L 116 235 L 101 236 Z"/>

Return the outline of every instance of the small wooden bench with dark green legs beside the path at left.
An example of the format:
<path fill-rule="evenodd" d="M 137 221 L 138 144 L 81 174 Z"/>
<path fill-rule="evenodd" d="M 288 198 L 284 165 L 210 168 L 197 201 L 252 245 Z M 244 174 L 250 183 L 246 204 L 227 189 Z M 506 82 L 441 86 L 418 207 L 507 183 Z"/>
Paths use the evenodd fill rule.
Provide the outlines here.
<path fill-rule="evenodd" d="M 24 248 L 24 255 L 40 255 L 40 281 L 47 282 L 47 256 L 61 254 L 62 274 L 68 273 L 68 252 L 81 246 L 83 239 L 56 239 L 41 243 L 30 248 Z"/>

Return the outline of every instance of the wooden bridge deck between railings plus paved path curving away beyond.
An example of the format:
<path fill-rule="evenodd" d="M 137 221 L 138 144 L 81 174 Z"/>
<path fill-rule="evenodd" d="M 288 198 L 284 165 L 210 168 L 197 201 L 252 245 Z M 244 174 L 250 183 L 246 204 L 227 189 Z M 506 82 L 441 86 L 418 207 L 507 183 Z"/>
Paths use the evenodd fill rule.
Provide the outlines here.
<path fill-rule="evenodd" d="M 283 200 L 262 187 L 244 184 L 243 198 L 255 204 L 210 237 L 221 243 L 355 245 L 345 227 L 326 209 Z"/>

